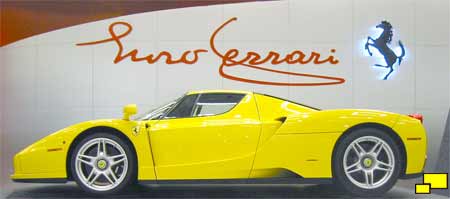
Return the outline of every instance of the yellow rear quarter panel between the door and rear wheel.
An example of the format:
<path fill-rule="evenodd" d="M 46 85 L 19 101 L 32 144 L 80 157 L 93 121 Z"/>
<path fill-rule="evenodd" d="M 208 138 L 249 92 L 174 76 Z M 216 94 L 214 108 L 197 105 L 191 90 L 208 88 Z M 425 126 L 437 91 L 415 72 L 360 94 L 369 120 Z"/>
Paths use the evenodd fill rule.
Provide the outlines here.
<path fill-rule="evenodd" d="M 343 132 L 368 121 L 391 127 L 399 116 L 373 110 L 315 111 L 269 96 L 256 97 L 266 128 L 252 170 L 255 178 L 270 177 L 266 171 L 277 167 L 305 178 L 331 178 L 331 154 Z M 274 122 L 280 115 L 287 116 L 283 124 Z M 280 158 L 280 154 L 289 155 Z"/>

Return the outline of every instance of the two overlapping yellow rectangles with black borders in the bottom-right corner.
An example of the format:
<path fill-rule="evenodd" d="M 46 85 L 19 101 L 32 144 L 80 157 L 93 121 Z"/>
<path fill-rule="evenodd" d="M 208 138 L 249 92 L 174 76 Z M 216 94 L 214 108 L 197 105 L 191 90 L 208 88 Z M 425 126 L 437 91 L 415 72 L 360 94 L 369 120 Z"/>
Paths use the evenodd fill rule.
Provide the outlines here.
<path fill-rule="evenodd" d="M 448 189 L 448 173 L 424 173 L 423 183 L 416 184 L 416 194 L 429 194 L 431 189 Z"/>

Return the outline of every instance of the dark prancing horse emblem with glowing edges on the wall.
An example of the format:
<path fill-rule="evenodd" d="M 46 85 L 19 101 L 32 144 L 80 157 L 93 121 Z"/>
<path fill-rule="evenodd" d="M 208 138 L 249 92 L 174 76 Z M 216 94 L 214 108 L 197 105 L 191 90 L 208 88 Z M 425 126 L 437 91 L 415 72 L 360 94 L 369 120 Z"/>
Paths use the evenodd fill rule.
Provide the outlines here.
<path fill-rule="evenodd" d="M 370 51 L 369 46 L 376 48 L 383 55 L 384 60 L 386 61 L 386 65 L 375 64 L 374 66 L 389 69 L 389 72 L 383 78 L 383 80 L 387 80 L 389 75 L 394 72 L 394 64 L 395 62 L 397 62 L 397 59 L 399 66 L 402 63 L 402 59 L 405 56 L 405 48 L 403 47 L 403 44 L 400 40 L 398 41 L 398 45 L 402 49 L 400 56 L 397 56 L 395 52 L 391 48 L 389 48 L 388 44 L 391 43 L 393 36 L 392 25 L 389 22 L 382 21 L 376 27 L 383 29 L 383 33 L 381 33 L 381 35 L 376 39 L 373 39 L 370 36 L 367 37 L 365 49 L 367 50 L 367 52 L 369 52 L 370 56 L 372 56 L 372 52 Z"/>

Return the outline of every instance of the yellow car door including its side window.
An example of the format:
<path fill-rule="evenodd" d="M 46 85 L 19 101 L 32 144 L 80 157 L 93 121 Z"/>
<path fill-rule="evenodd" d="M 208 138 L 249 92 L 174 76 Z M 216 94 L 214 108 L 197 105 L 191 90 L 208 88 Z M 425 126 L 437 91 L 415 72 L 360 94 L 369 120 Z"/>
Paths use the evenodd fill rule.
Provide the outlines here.
<path fill-rule="evenodd" d="M 157 179 L 247 178 L 260 128 L 251 94 L 187 95 L 150 127 Z"/>

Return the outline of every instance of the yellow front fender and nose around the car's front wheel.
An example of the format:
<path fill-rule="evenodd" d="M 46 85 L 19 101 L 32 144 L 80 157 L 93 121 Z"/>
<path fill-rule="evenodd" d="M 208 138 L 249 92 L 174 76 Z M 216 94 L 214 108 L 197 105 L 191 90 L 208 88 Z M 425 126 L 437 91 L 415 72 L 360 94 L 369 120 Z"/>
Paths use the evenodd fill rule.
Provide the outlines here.
<path fill-rule="evenodd" d="M 138 178 L 155 179 L 151 149 L 145 128 L 141 122 L 118 119 L 92 120 L 59 130 L 33 143 L 14 157 L 13 180 L 67 178 L 66 160 L 74 140 L 95 127 L 109 127 L 123 133 L 136 151 Z M 137 133 L 133 132 L 136 128 Z"/>

